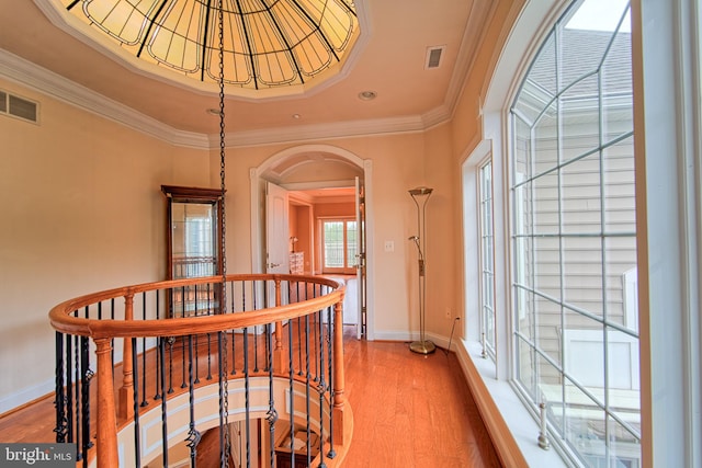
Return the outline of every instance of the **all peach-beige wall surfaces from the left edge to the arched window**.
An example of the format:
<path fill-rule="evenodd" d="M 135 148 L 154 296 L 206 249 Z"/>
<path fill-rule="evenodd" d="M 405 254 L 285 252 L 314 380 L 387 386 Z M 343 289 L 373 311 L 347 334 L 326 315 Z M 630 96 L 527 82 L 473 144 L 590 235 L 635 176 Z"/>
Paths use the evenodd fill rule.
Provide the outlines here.
<path fill-rule="evenodd" d="M 510 10 L 512 5 L 512 10 Z M 427 331 L 448 336 L 462 315 L 460 164 L 479 141 L 478 103 L 513 2 L 500 2 L 450 124 L 423 133 L 315 141 L 371 160 L 374 329 L 417 331 L 416 233 L 408 190 L 434 189 L 427 217 Z M 492 43 L 490 43 L 490 41 Z M 41 125 L 0 116 L 0 410 L 50 389 L 54 334 L 47 312 L 77 295 L 161 279 L 161 184 L 219 185 L 218 150 L 168 145 L 13 82 L 0 88 L 41 102 Z M 308 142 L 306 142 L 308 144 Z M 228 272 L 250 272 L 250 170 L 290 145 L 227 149 Z M 256 217 L 254 217 L 256 219 Z M 395 250 L 384 251 L 385 241 Z M 21 356 L 21 361 L 18 357 Z"/>

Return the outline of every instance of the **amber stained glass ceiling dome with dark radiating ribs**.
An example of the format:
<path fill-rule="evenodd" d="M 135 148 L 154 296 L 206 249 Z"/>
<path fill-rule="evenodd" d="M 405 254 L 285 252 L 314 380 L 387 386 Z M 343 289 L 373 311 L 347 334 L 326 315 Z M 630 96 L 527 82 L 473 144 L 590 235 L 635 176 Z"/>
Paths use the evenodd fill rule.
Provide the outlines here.
<path fill-rule="evenodd" d="M 218 80 L 218 0 L 56 3 L 71 26 L 141 70 L 195 88 Z M 223 0 L 223 10 L 228 94 L 298 93 L 325 81 L 360 33 L 353 0 Z"/>

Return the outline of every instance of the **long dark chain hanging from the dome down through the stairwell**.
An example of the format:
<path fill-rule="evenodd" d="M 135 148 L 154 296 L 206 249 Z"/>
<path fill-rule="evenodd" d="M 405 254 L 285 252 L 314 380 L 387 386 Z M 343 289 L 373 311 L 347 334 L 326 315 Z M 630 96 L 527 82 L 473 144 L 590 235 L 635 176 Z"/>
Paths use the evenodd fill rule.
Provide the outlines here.
<path fill-rule="evenodd" d="M 225 128 L 224 128 L 224 5 L 223 0 L 217 2 L 217 23 L 218 23 L 218 38 L 219 38 L 219 182 L 222 189 L 222 313 L 227 312 L 227 217 L 225 209 L 225 192 L 226 192 L 226 168 L 225 168 Z M 222 341 L 219 344 L 219 353 L 222 354 L 222 366 L 219 368 L 219 379 L 224 384 L 223 392 L 223 412 L 224 412 L 224 453 L 222 454 L 220 466 L 226 468 L 229 466 L 228 458 L 230 452 L 230 435 L 229 435 L 229 378 L 227 376 L 227 333 L 222 333 Z"/>

